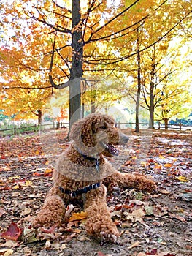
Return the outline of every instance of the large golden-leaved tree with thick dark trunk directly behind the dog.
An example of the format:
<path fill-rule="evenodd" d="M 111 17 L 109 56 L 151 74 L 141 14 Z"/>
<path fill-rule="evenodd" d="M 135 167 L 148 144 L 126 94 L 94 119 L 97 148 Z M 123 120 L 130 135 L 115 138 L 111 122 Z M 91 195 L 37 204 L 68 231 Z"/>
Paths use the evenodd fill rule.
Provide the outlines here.
<path fill-rule="evenodd" d="M 18 72 L 22 74 L 25 70 L 29 77 L 35 77 L 34 83 L 39 81 L 34 90 L 49 91 L 48 95 L 52 93 L 49 81 L 54 89 L 69 86 L 72 124 L 80 117 L 80 106 L 85 103 L 81 103 L 81 94 L 85 92 L 82 75 L 94 72 L 99 76 L 119 77 L 122 71 L 130 75 L 128 60 L 134 56 L 137 59 L 133 67 L 136 69 L 137 64 L 138 72 L 138 56 L 144 60 L 142 54 L 164 37 L 171 36 L 191 13 L 188 1 L 180 4 L 179 1 L 137 0 L 124 4 L 125 1 L 12 0 L 4 6 L 1 16 L 4 24 L 8 23 L 5 34 L 9 34 L 10 28 L 15 31 L 3 49 L 3 52 L 9 49 L 15 53 L 12 64 L 7 65 L 7 70 L 10 67 L 14 70 L 7 75 L 4 72 L 4 78 L 17 80 Z M 138 78 L 139 74 L 137 81 Z M 19 86 L 22 90 L 33 89 L 31 84 L 19 83 Z M 15 89 L 13 84 L 7 87 Z M 46 98 L 47 93 L 41 101 Z"/>

